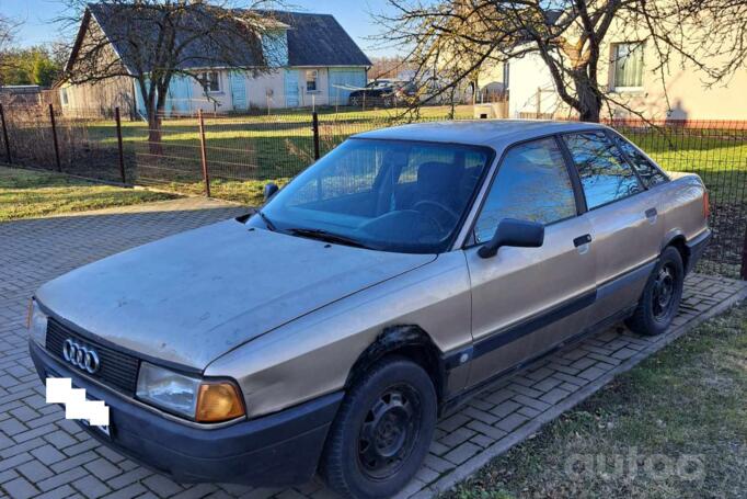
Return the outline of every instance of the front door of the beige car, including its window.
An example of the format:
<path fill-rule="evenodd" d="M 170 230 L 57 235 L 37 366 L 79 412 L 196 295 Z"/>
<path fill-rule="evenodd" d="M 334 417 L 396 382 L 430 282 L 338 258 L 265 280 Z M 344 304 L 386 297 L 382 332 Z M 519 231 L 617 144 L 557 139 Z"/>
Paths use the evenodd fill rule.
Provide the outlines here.
<path fill-rule="evenodd" d="M 591 226 L 578 215 L 578 190 L 555 137 L 513 146 L 476 216 L 474 246 L 466 249 L 472 287 L 470 385 L 515 367 L 587 325 L 594 298 Z M 504 218 L 544 224 L 541 248 L 503 247 L 492 258 L 479 248 Z"/>

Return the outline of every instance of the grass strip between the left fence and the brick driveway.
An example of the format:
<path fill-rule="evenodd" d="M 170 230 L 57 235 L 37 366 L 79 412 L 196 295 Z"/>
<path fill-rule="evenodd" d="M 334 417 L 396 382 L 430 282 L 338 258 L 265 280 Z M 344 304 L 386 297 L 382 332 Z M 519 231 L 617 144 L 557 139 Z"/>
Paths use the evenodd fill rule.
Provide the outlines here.
<path fill-rule="evenodd" d="M 176 197 L 102 185 L 51 172 L 0 167 L 0 222 Z"/>

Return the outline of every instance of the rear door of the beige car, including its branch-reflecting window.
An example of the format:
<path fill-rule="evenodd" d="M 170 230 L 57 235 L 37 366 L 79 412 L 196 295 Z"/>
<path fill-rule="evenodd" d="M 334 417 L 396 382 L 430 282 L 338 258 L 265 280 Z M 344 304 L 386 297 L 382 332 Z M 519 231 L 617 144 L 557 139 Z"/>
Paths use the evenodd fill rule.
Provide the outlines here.
<path fill-rule="evenodd" d="M 597 265 L 593 322 L 614 318 L 641 296 L 660 252 L 658 191 L 647 191 L 601 129 L 565 134 L 588 207 Z"/>

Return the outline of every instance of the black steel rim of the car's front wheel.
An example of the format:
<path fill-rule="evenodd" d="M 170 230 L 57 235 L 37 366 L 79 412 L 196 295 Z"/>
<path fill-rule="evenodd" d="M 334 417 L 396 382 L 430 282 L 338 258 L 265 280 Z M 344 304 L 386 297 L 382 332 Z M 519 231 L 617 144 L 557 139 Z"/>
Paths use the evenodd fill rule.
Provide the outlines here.
<path fill-rule="evenodd" d="M 421 397 L 409 384 L 387 388 L 366 413 L 358 433 L 358 466 L 373 480 L 397 475 L 421 433 Z"/>

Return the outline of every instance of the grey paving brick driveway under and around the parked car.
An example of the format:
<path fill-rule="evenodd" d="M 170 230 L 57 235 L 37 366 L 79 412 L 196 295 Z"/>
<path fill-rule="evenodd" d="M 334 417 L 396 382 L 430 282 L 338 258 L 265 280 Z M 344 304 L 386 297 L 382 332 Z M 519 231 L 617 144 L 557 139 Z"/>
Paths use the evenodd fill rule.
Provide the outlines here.
<path fill-rule="evenodd" d="M 44 402 L 24 326 L 28 296 L 84 263 L 245 213 L 199 199 L 0 225 L 0 496 L 329 497 L 318 483 L 287 490 L 183 486 L 99 445 Z M 403 492 L 429 497 L 536 432 L 614 374 L 747 293 L 747 283 L 692 275 L 676 327 L 664 337 L 614 328 L 545 359 L 474 398 L 438 426 L 426 465 Z M 251 466 L 251 463 L 248 463 Z"/>

